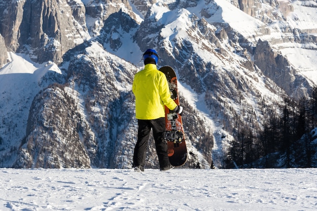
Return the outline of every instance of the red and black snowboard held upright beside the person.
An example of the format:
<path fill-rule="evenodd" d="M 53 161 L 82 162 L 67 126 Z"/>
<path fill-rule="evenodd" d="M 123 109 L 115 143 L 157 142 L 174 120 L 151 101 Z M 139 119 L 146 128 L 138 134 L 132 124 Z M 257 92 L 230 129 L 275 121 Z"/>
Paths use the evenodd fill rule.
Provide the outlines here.
<path fill-rule="evenodd" d="M 169 83 L 171 98 L 179 105 L 177 91 L 177 77 L 175 71 L 170 66 L 159 69 L 163 72 Z M 173 166 L 181 166 L 187 160 L 187 147 L 183 130 L 182 116 L 171 111 L 165 106 L 165 132 L 163 135 L 168 145 L 168 156 Z"/>

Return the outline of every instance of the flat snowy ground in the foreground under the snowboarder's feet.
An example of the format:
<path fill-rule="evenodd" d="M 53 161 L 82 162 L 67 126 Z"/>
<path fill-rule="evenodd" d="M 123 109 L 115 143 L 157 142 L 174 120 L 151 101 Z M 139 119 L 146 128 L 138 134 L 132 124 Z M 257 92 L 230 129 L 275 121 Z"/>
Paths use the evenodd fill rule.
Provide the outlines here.
<path fill-rule="evenodd" d="M 0 169 L 0 210 L 316 210 L 317 169 Z"/>

